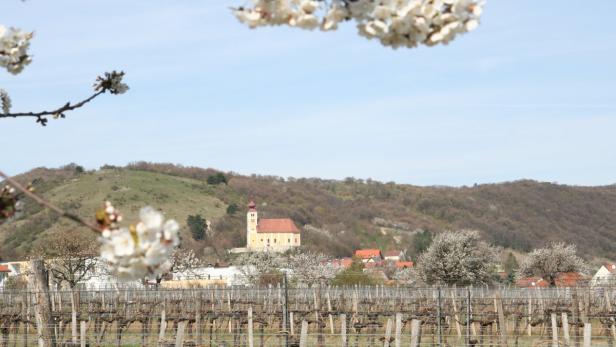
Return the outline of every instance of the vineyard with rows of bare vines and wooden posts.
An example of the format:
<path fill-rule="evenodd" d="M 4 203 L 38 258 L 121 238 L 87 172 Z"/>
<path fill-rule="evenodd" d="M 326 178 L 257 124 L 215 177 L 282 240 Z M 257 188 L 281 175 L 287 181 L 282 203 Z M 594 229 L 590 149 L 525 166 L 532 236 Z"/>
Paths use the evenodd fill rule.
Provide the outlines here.
<path fill-rule="evenodd" d="M 614 346 L 614 288 L 52 291 L 57 345 Z M 0 292 L 0 346 L 37 345 L 35 292 Z M 74 308 L 74 309 L 73 309 Z"/>

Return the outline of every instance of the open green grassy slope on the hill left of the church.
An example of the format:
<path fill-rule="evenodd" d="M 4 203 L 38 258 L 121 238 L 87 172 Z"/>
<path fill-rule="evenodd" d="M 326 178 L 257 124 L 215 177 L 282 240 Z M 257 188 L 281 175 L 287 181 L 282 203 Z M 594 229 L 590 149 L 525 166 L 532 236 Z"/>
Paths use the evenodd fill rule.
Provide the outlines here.
<path fill-rule="evenodd" d="M 133 170 L 101 170 L 69 178 L 45 191 L 43 196 L 84 218 L 92 218 L 93 212 L 100 208 L 105 200 L 113 201 L 126 221 L 136 220 L 139 209 L 149 204 L 184 225 L 190 214 L 216 219 L 225 213 L 226 204 L 212 196 L 211 191 L 212 187 L 204 182 L 189 178 Z M 37 218 L 45 219 L 47 215 L 46 211 L 38 211 L 27 219 L 0 227 L 0 241 L 5 252 L 7 249 L 14 249 L 18 253 L 26 252 L 46 233 L 75 227 L 72 222 L 52 218 L 52 224 L 44 231 L 26 239 L 15 237 L 15 230 L 32 230 L 28 222 Z M 29 230 L 23 231 L 28 233 Z M 182 228 L 182 232 L 184 239 L 190 238 L 186 228 Z"/>

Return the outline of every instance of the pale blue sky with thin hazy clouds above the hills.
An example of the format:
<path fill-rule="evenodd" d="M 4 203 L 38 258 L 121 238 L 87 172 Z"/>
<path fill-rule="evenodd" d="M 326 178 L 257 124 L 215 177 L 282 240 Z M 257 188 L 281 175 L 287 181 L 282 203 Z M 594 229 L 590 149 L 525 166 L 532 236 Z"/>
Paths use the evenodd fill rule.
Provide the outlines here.
<path fill-rule="evenodd" d="M 36 32 L 34 62 L 0 73 L 14 111 L 77 101 L 112 69 L 131 90 L 46 128 L 2 120 L 0 168 L 146 160 L 417 185 L 616 183 L 613 0 L 488 0 L 477 31 L 414 50 L 351 23 L 250 30 L 228 10 L 242 4 L 2 1 L 0 23 Z"/>

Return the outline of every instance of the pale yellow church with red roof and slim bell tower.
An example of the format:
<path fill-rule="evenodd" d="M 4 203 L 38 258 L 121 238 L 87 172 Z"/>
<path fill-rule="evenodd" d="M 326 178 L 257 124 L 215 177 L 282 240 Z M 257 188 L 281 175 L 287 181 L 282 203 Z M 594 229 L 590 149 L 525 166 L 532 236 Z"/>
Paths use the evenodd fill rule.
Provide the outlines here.
<path fill-rule="evenodd" d="M 254 201 L 246 214 L 246 248 L 251 252 L 284 252 L 301 245 L 300 231 L 289 218 L 259 218 Z"/>

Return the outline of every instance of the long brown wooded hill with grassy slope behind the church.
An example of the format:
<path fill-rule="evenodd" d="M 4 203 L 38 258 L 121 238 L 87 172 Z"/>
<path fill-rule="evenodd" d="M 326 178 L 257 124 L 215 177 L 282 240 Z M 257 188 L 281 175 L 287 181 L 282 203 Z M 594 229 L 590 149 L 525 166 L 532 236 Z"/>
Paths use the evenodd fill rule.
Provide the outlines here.
<path fill-rule="evenodd" d="M 549 241 L 578 245 L 588 258 L 616 252 L 616 186 L 579 187 L 530 180 L 473 187 L 418 187 L 347 178 L 242 176 L 227 173 L 228 183 L 210 180 L 212 169 L 172 164 L 135 163 L 83 172 L 78 166 L 34 169 L 19 175 L 59 206 L 90 217 L 110 200 L 136 217 L 150 204 L 182 225 L 188 215 L 212 221 L 204 241 L 183 228 L 185 247 L 214 258 L 245 243 L 244 206 L 258 203 L 262 217 L 290 217 L 303 229 L 302 243 L 336 256 L 359 247 L 412 249 L 418 231 L 477 229 L 499 246 L 528 251 Z M 233 213 L 230 205 L 239 210 Z M 23 215 L 0 226 L 0 258 L 26 255 L 48 233 L 75 228 L 33 203 Z"/>

